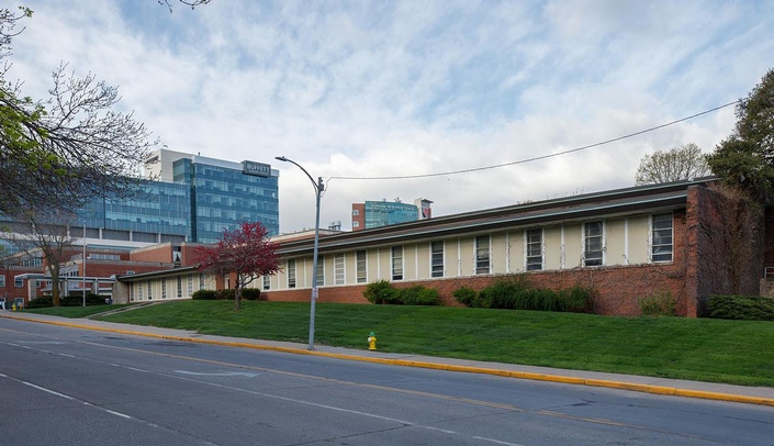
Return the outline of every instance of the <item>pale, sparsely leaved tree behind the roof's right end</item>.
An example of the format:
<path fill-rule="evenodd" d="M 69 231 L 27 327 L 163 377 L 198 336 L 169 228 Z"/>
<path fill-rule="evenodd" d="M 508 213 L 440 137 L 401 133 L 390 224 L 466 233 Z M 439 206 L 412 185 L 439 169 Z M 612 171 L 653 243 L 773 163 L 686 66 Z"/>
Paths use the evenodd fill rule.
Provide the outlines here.
<path fill-rule="evenodd" d="M 707 174 L 707 156 L 702 154 L 696 144 L 688 143 L 642 157 L 635 180 L 637 186 L 642 186 L 704 177 Z"/>

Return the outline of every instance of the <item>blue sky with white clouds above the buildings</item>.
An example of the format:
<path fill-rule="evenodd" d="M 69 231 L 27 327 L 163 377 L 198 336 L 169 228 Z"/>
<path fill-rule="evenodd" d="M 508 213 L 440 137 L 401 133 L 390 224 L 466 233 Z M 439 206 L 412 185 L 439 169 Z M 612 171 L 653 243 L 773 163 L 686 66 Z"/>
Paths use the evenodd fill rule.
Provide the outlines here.
<path fill-rule="evenodd" d="M 727 104 L 774 67 L 772 1 L 16 3 L 34 10 L 8 75 L 25 94 L 67 62 L 170 149 L 271 164 L 282 232 L 314 225 L 314 191 L 274 156 L 324 178 L 322 225 L 344 228 L 366 200 L 447 215 L 629 187 L 646 154 L 711 152 L 733 107 L 515 163 Z"/>

